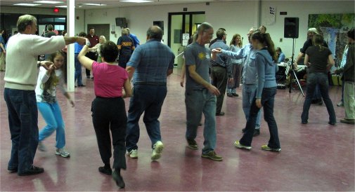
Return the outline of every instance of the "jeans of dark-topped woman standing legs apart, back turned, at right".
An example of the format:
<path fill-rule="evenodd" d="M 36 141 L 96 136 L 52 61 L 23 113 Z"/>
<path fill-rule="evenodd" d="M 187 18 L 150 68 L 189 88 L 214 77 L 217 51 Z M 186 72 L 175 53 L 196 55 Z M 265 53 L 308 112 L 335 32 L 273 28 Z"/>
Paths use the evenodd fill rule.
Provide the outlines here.
<path fill-rule="evenodd" d="M 307 75 L 307 90 L 306 90 L 306 100 L 304 100 L 303 111 L 302 111 L 302 122 L 308 122 L 309 107 L 311 107 L 312 97 L 314 95 L 314 90 L 316 85 L 319 85 L 321 90 L 321 95 L 325 107 L 327 107 L 329 114 L 329 122 L 336 123 L 337 118 L 335 116 L 335 111 L 333 107 L 333 102 L 330 100 L 328 93 L 328 75 L 325 73 L 311 73 Z"/>

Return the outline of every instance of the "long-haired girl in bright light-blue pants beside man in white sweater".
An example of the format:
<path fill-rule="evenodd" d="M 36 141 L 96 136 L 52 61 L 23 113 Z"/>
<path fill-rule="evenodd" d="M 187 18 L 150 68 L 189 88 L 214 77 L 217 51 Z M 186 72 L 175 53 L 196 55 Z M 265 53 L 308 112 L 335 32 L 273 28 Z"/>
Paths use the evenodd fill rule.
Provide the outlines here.
<path fill-rule="evenodd" d="M 62 156 L 64 158 L 70 157 L 70 153 L 65 150 L 65 130 L 64 122 L 62 117 L 62 112 L 60 110 L 57 98 L 56 98 L 56 87 L 58 87 L 63 95 L 74 107 L 74 102 L 70 98 L 64 87 L 64 76 L 63 76 L 63 66 L 64 56 L 61 51 L 52 53 L 49 55 L 49 61 L 53 62 L 49 69 L 44 67 L 39 68 L 39 74 L 36 86 L 36 100 L 37 107 L 47 125 L 39 131 L 39 151 L 46 151 L 46 147 L 43 144 L 43 140 L 46 137 L 52 135 L 56 130 L 56 155 Z"/>

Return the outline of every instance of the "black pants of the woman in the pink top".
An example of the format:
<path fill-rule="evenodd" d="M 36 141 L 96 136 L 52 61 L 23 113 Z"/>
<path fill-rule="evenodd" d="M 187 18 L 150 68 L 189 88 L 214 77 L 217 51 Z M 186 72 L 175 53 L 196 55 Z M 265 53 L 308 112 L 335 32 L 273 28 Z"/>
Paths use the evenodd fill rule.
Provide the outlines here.
<path fill-rule="evenodd" d="M 93 128 L 96 132 L 98 150 L 103 163 L 110 163 L 111 137 L 113 145 L 113 168 L 126 169 L 126 127 L 127 114 L 121 97 L 96 97 L 91 104 Z"/>

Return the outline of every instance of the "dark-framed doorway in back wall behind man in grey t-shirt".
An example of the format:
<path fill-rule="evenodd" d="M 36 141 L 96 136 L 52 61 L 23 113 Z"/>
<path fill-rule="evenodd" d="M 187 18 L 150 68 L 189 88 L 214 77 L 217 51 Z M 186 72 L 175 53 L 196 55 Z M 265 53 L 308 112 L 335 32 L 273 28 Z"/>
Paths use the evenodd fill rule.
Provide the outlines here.
<path fill-rule="evenodd" d="M 167 44 L 176 55 L 174 65 L 178 68 L 181 68 L 183 62 L 182 55 L 179 54 L 187 46 L 183 36 L 188 34 L 190 37 L 202 22 L 205 22 L 205 11 L 169 13 Z"/>

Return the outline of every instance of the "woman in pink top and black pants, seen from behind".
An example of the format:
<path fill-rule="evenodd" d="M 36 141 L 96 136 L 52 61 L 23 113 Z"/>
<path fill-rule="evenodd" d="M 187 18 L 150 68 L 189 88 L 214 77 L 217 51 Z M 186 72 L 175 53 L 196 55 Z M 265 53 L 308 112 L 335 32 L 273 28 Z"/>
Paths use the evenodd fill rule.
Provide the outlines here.
<path fill-rule="evenodd" d="M 126 158 L 124 153 L 127 114 L 124 106 L 124 97 L 131 97 L 131 83 L 125 69 L 115 62 L 118 55 L 116 43 L 107 41 L 101 45 L 101 63 L 86 57 L 89 46 L 84 46 L 77 56 L 79 62 L 90 71 L 93 71 L 93 90 L 96 98 L 91 104 L 93 128 L 96 132 L 98 150 L 101 159 L 105 164 L 98 167 L 98 171 L 103 174 L 112 174 L 117 186 L 124 188 L 124 181 L 120 170 L 126 170 Z M 122 91 L 122 88 L 124 91 Z M 111 138 L 113 145 L 113 166 L 112 173 L 110 166 Z"/>

